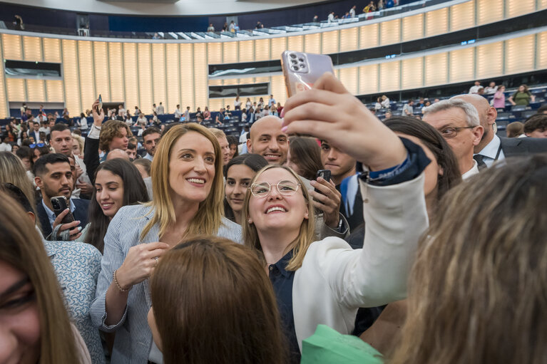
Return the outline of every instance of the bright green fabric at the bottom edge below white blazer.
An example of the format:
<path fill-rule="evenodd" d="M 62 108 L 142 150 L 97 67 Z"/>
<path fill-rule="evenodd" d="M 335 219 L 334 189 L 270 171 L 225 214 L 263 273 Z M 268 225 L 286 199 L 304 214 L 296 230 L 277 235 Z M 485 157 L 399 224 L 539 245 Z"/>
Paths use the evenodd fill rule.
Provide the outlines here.
<path fill-rule="evenodd" d="M 329 326 L 319 325 L 315 333 L 302 342 L 300 364 L 382 364 L 384 358 L 357 336 L 342 335 Z"/>

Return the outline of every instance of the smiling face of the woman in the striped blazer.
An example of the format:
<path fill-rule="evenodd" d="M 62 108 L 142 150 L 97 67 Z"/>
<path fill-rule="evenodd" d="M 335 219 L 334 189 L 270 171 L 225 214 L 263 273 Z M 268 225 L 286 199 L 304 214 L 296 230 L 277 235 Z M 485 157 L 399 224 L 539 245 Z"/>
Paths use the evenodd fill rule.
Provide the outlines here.
<path fill-rule="evenodd" d="M 199 132 L 187 132 L 171 149 L 169 185 L 173 199 L 203 202 L 215 177 L 215 148 Z"/>

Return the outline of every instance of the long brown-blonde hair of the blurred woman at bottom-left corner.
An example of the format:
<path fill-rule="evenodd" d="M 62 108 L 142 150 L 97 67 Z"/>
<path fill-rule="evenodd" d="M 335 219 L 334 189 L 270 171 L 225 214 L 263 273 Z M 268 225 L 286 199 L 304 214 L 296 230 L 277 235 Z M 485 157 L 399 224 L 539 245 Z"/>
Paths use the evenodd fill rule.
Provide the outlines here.
<path fill-rule="evenodd" d="M 40 317 L 40 363 L 79 363 L 61 287 L 44 243 L 19 203 L 0 192 L 0 261 L 29 277 Z"/>

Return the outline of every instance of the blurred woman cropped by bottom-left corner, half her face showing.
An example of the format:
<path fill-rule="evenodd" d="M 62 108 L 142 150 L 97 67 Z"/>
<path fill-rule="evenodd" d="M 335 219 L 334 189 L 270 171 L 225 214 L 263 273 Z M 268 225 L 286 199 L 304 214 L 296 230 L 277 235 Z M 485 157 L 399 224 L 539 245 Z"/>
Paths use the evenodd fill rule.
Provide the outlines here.
<path fill-rule="evenodd" d="M 91 363 L 39 233 L 0 192 L 0 362 Z"/>

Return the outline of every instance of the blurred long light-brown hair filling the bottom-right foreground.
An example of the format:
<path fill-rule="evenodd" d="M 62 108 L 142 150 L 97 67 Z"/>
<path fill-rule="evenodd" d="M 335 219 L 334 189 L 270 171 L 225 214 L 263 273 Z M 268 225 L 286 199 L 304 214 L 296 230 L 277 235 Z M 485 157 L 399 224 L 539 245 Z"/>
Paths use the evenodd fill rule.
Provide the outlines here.
<path fill-rule="evenodd" d="M 506 163 L 441 200 L 390 363 L 545 363 L 547 156 Z"/>

